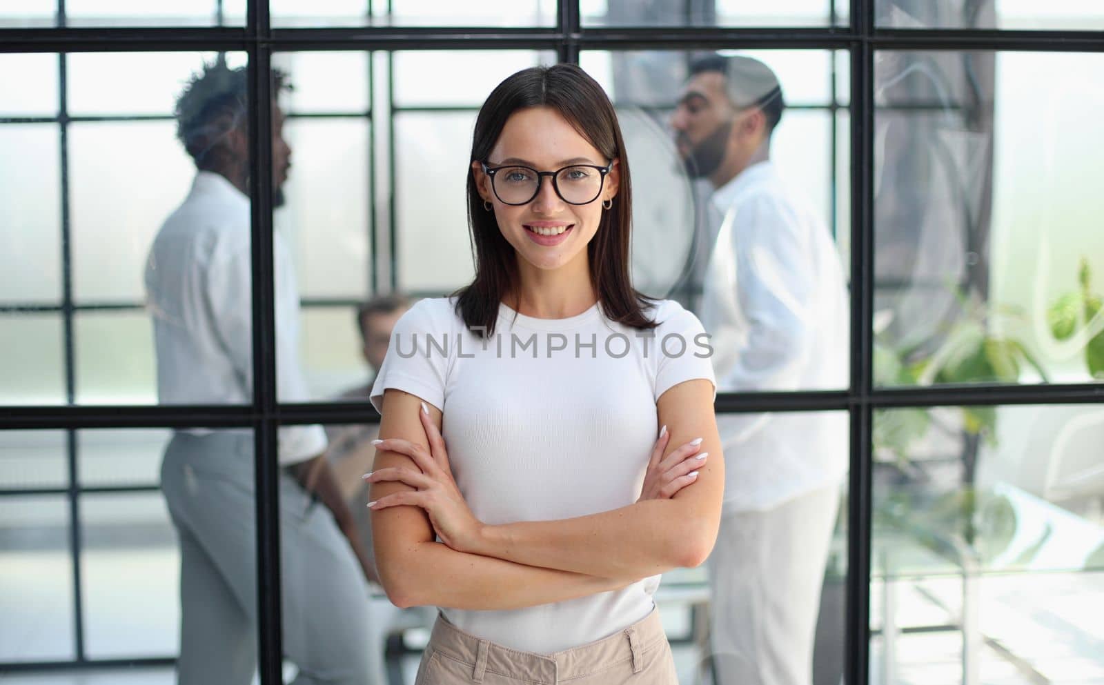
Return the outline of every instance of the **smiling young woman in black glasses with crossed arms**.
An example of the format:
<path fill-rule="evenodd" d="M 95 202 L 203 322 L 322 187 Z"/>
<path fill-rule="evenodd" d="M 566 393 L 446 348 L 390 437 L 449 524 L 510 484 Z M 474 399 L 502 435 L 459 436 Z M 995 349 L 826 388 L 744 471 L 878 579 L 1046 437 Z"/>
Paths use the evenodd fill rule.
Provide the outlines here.
<path fill-rule="evenodd" d="M 475 279 L 403 315 L 371 394 L 381 581 L 439 608 L 417 685 L 678 682 L 652 593 L 709 556 L 724 467 L 708 336 L 633 289 L 630 214 L 590 76 L 499 84 L 468 172 Z"/>

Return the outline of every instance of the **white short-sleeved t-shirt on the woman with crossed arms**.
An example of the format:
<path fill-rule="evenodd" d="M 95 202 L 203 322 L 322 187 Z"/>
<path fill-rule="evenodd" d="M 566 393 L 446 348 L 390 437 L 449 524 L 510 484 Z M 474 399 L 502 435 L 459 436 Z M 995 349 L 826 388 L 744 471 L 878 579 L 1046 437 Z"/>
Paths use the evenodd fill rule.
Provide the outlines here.
<path fill-rule="evenodd" d="M 384 389 L 397 388 L 442 410 L 453 475 L 487 524 L 633 504 L 659 430 L 659 396 L 691 378 L 713 382 L 704 329 L 672 300 L 645 310 L 659 322 L 651 331 L 611 322 L 598 303 L 567 319 L 534 319 L 500 304 L 486 344 L 454 304 L 425 299 L 403 314 L 371 400 L 382 410 Z M 550 654 L 639 621 L 658 586 L 655 576 L 526 609 L 442 611 L 479 638 Z"/>

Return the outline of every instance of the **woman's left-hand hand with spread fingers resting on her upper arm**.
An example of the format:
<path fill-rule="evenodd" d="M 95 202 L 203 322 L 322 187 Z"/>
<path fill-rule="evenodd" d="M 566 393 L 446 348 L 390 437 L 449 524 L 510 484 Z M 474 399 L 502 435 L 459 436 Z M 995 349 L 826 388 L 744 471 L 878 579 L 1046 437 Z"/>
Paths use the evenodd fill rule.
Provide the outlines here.
<path fill-rule="evenodd" d="M 437 425 L 429 418 L 425 403 L 422 403 L 421 418 L 429 442 L 429 453 L 426 453 L 421 446 L 400 438 L 372 441 L 376 449 L 406 454 L 414 460 L 421 471 L 388 468 L 363 475 L 369 483 L 399 481 L 417 490 L 395 492 L 375 502 L 369 502 L 368 506 L 372 511 L 389 506 L 421 506 L 429 515 L 429 522 L 442 542 L 457 552 L 467 552 L 479 536 L 484 524 L 468 509 L 468 503 L 453 480 L 448 452 L 445 451 L 445 439 L 437 430 Z"/>

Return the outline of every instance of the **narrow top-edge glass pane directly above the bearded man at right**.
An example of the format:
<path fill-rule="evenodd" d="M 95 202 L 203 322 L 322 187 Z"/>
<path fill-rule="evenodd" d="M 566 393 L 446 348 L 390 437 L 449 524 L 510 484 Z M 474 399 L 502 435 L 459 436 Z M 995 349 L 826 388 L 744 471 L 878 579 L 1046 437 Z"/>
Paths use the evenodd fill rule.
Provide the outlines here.
<path fill-rule="evenodd" d="M 828 26 L 848 22 L 839 0 L 582 0 L 584 26 Z"/>

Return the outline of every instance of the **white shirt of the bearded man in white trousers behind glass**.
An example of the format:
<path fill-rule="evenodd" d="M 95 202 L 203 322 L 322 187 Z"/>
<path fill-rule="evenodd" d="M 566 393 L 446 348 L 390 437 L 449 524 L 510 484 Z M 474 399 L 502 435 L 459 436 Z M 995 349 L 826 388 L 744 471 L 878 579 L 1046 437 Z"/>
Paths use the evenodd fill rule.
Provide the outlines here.
<path fill-rule="evenodd" d="M 842 389 L 848 297 L 827 227 L 760 162 L 716 190 L 722 220 L 701 321 L 721 392 Z M 725 512 L 764 511 L 838 484 L 848 468 L 843 413 L 718 415 Z"/>

